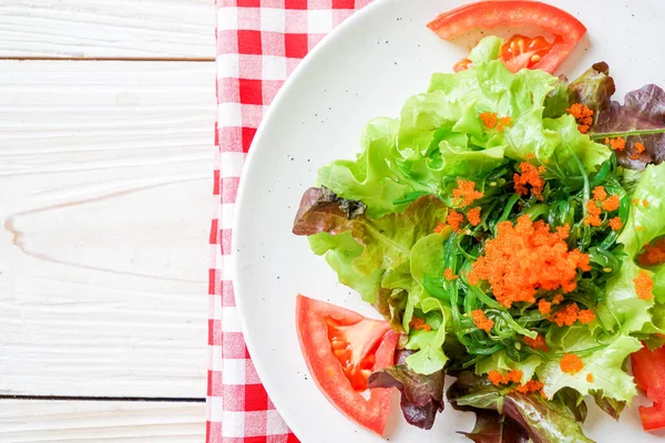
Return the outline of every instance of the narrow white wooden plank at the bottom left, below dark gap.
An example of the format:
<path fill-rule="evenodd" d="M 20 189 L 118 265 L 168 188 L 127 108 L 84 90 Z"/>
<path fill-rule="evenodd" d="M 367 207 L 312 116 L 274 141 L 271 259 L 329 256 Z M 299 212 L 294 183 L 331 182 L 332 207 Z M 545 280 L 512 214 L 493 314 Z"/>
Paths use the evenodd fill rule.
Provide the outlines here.
<path fill-rule="evenodd" d="M 0 441 L 201 443 L 205 403 L 0 401 Z"/>

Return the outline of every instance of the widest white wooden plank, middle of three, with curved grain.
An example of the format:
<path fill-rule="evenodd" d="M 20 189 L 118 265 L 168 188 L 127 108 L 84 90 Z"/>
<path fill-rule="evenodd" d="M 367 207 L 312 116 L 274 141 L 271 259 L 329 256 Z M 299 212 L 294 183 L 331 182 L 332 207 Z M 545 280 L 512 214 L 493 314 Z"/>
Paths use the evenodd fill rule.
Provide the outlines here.
<path fill-rule="evenodd" d="M 0 394 L 205 395 L 214 78 L 0 62 Z"/>

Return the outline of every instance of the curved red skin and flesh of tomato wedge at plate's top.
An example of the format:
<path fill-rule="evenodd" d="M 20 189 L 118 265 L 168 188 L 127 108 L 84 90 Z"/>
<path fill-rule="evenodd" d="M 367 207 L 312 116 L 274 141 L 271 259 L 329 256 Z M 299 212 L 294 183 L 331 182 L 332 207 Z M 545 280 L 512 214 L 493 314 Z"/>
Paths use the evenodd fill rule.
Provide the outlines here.
<path fill-rule="evenodd" d="M 529 56 L 529 60 L 533 61 L 530 69 L 541 69 L 550 73 L 559 68 L 586 33 L 584 24 L 570 13 L 551 4 L 526 0 L 470 3 L 444 12 L 428 24 L 443 40 L 456 39 L 473 29 L 533 25 L 556 35 L 549 51 L 539 51 Z M 539 38 L 534 39 L 538 40 L 536 45 L 543 43 L 544 39 L 540 39 Z M 546 41 L 544 43 L 550 45 Z"/>

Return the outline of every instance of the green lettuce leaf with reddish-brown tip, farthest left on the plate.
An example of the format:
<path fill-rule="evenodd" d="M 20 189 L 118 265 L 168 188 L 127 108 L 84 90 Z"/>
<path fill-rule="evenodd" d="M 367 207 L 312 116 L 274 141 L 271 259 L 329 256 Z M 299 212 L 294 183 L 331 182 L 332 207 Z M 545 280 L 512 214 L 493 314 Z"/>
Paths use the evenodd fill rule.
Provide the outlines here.
<path fill-rule="evenodd" d="M 402 214 L 349 218 L 339 202 L 317 198 L 319 194 L 317 188 L 305 194 L 294 233 L 310 236 L 311 249 L 326 255 L 342 284 L 369 302 L 377 301 L 381 288 L 408 291 L 418 287 L 411 276 L 411 249 L 446 219 L 448 209 L 441 200 L 423 196 Z"/>

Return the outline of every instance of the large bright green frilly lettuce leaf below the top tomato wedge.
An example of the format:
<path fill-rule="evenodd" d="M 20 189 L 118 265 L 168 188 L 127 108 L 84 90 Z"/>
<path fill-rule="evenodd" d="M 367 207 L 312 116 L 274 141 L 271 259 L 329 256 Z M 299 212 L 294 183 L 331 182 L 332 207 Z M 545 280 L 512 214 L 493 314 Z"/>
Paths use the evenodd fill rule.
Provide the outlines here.
<path fill-rule="evenodd" d="M 482 177 L 508 159 L 535 155 L 564 179 L 580 176 L 577 157 L 593 173 L 611 151 L 562 115 L 570 100 L 563 81 L 540 70 L 511 73 L 497 60 L 500 47 L 501 39 L 483 39 L 471 52 L 471 69 L 433 74 L 426 93 L 407 100 L 399 120 L 371 121 L 358 157 L 324 166 L 318 184 L 365 203 L 368 216 L 380 218 L 403 212 L 421 195 L 443 197 L 449 182 Z M 483 112 L 511 124 L 485 127 Z"/>

